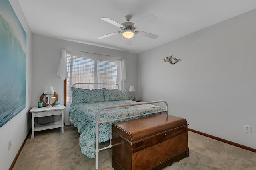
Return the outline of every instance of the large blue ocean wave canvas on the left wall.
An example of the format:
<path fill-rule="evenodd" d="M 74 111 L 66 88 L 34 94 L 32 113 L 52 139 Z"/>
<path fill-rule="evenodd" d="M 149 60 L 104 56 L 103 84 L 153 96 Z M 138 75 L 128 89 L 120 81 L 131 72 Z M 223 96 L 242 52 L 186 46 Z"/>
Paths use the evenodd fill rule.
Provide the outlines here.
<path fill-rule="evenodd" d="M 0 0 L 0 127 L 26 106 L 26 37 L 10 2 Z"/>

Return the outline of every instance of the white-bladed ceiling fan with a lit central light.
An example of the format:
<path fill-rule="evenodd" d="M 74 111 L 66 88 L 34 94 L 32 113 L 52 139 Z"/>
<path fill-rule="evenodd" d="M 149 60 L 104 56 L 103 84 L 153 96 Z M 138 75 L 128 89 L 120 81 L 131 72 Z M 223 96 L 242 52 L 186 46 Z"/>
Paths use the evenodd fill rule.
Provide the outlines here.
<path fill-rule="evenodd" d="M 156 20 L 156 17 L 153 16 L 153 15 L 149 15 L 146 18 L 138 21 L 137 23 L 130 22 L 130 20 L 132 19 L 132 16 L 129 16 L 129 15 L 125 16 L 125 19 L 126 19 L 127 22 L 124 22 L 122 24 L 120 24 L 120 23 L 118 23 L 114 20 L 111 20 L 110 18 L 107 18 L 107 17 L 103 17 L 103 18 L 100 18 L 100 19 L 103 20 L 103 21 L 106 21 L 108 23 L 111 23 L 111 24 L 113 24 L 117 27 L 120 27 L 122 31 L 102 35 L 102 36 L 98 37 L 98 39 L 110 37 L 112 35 L 121 34 L 121 33 L 122 33 L 122 36 L 126 39 L 132 38 L 135 34 L 142 35 L 144 37 L 148 37 L 148 38 L 152 38 L 152 39 L 156 39 L 158 37 L 158 35 L 155 35 L 155 34 L 152 34 L 152 33 L 147 33 L 147 32 L 143 32 L 143 31 L 135 31 L 135 29 L 144 25 L 145 23 L 147 23 L 147 22 L 150 23 L 153 20 Z"/>

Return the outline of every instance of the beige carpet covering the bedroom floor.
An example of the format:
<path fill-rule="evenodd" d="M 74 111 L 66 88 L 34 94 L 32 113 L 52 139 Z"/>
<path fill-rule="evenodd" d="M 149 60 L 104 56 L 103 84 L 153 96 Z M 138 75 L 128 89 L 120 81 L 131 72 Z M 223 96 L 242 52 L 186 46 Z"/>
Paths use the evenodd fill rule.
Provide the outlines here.
<path fill-rule="evenodd" d="M 13 170 L 94 170 L 95 160 L 84 156 L 75 127 L 64 133 L 51 129 L 28 139 Z M 164 170 L 256 170 L 256 153 L 188 131 L 190 156 Z M 100 152 L 99 169 L 113 170 L 112 149 Z"/>

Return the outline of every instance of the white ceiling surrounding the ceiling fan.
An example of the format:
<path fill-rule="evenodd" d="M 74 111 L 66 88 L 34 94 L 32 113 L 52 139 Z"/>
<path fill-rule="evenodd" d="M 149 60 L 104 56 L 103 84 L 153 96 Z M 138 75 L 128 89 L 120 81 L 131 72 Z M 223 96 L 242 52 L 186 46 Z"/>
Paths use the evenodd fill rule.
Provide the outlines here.
<path fill-rule="evenodd" d="M 256 0 L 18 0 L 33 34 L 141 53 L 210 25 L 256 9 Z M 150 14 L 156 20 L 136 30 L 159 35 L 150 39 L 135 35 L 134 45 L 117 34 L 121 31 L 101 20 L 120 24 L 130 15 L 136 23 Z M 124 45 L 124 47 L 122 47 Z"/>

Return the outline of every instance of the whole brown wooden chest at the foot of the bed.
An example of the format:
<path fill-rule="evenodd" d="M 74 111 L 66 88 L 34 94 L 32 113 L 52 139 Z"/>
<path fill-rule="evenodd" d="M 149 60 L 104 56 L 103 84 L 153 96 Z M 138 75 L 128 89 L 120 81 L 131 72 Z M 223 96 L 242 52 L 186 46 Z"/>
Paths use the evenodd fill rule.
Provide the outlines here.
<path fill-rule="evenodd" d="M 153 115 L 112 125 L 115 170 L 161 170 L 189 156 L 186 119 Z"/>

